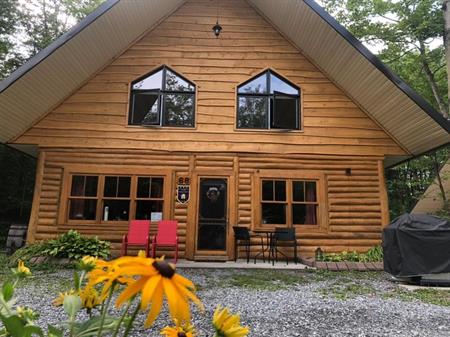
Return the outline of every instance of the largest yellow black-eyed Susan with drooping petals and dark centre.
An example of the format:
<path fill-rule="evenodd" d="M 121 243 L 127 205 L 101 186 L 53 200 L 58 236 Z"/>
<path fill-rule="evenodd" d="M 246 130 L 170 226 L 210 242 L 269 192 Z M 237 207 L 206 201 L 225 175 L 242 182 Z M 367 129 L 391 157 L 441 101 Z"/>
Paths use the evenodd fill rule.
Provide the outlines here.
<path fill-rule="evenodd" d="M 131 282 L 117 298 L 119 307 L 126 301 L 141 293 L 141 310 L 150 310 L 145 326 L 152 325 L 159 312 L 164 297 L 169 304 L 171 317 L 183 324 L 191 319 L 189 300 L 193 301 L 203 310 L 203 305 L 195 296 L 194 284 L 181 275 L 175 273 L 175 265 L 163 259 L 149 259 L 142 257 L 129 258 L 130 265 L 121 264 L 117 269 L 119 275 L 132 275 L 137 278 Z"/>

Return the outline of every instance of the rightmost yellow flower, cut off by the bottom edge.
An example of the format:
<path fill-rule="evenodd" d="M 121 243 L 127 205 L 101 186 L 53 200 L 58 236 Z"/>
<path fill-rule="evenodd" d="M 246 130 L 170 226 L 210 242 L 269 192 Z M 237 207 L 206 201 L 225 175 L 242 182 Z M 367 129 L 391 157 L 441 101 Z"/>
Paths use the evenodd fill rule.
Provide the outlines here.
<path fill-rule="evenodd" d="M 213 325 L 218 337 L 245 337 L 250 332 L 248 327 L 241 326 L 239 315 L 232 315 L 220 305 L 214 312 Z"/>

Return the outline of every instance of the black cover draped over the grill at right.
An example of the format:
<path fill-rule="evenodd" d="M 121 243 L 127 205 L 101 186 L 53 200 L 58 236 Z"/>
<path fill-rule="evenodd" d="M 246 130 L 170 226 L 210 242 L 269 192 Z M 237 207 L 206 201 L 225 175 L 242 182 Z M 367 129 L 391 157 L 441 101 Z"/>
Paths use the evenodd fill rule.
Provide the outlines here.
<path fill-rule="evenodd" d="M 384 270 L 396 277 L 450 272 L 450 222 L 403 214 L 383 230 Z"/>

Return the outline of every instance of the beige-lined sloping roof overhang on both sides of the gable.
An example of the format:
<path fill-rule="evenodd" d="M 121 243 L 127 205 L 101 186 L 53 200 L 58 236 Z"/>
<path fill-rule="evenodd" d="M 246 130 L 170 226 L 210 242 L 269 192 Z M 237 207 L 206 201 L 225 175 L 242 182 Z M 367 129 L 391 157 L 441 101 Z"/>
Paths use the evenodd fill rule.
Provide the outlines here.
<path fill-rule="evenodd" d="M 388 165 L 450 142 L 450 122 L 314 1 L 247 1 L 409 152 Z M 105 2 L 0 83 L 0 141 L 31 127 L 184 2 Z"/>

